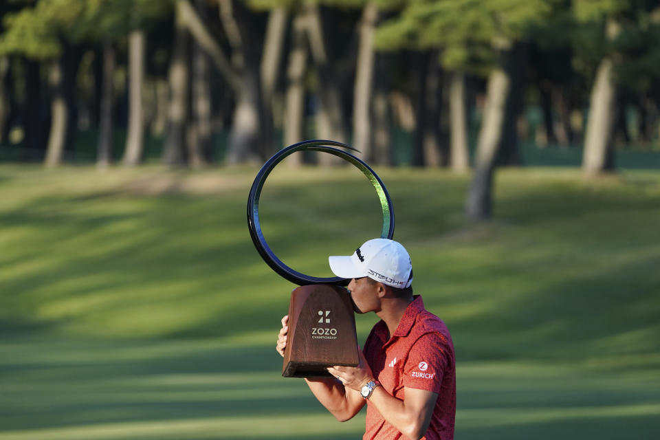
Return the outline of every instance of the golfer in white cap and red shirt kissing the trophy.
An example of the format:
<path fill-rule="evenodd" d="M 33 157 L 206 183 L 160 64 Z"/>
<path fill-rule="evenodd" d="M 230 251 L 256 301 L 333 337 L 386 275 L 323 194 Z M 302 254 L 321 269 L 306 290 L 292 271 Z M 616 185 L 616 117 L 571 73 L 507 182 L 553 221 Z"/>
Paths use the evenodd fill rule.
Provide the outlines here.
<path fill-rule="evenodd" d="M 357 367 L 334 366 L 334 377 L 305 381 L 339 421 L 366 404 L 363 439 L 454 438 L 456 367 L 444 322 L 412 295 L 412 264 L 396 241 L 373 239 L 351 256 L 331 256 L 336 276 L 351 278 L 355 311 L 373 311 L 380 321 L 359 350 Z M 282 318 L 277 351 L 284 355 L 288 316 Z"/>

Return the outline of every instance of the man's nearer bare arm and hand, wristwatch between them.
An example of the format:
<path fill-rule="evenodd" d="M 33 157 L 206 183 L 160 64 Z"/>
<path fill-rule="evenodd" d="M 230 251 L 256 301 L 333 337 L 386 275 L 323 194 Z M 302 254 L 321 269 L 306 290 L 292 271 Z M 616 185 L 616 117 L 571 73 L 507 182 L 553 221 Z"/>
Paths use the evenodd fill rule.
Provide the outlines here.
<path fill-rule="evenodd" d="M 362 351 L 360 351 L 360 358 L 360 366 L 356 368 L 336 366 L 328 369 L 333 376 L 344 384 L 345 388 L 356 393 L 359 393 L 364 384 L 373 380 L 369 366 L 366 369 L 361 368 L 363 362 L 366 364 Z M 406 386 L 405 396 L 404 400 L 397 399 L 385 391 L 382 386 L 377 386 L 371 397 L 369 397 L 369 401 L 383 418 L 397 428 L 399 432 L 412 440 L 421 439 L 431 423 L 431 415 L 438 395 L 432 391 Z"/>

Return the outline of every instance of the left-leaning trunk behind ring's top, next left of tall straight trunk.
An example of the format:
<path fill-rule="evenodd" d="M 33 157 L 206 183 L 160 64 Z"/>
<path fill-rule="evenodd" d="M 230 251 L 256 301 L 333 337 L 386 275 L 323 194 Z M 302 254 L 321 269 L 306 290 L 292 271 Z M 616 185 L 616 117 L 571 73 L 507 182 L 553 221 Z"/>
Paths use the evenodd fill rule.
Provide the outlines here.
<path fill-rule="evenodd" d="M 316 137 L 319 139 L 346 142 L 342 92 L 336 66 L 329 60 L 328 44 L 318 5 L 305 5 L 307 36 L 311 56 L 318 72 L 317 89 L 319 106 L 316 113 Z M 319 156 L 321 166 L 340 164 L 339 157 L 325 154 Z"/>

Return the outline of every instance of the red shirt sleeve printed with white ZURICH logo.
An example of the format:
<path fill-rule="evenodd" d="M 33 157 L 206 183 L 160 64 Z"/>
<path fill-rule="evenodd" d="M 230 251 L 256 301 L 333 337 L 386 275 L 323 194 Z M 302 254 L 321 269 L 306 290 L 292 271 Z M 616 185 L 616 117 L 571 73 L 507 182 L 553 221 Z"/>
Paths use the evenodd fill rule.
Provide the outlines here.
<path fill-rule="evenodd" d="M 441 334 L 426 333 L 412 344 L 408 352 L 408 359 L 404 365 L 403 385 L 440 393 L 447 364 L 447 349 Z"/>

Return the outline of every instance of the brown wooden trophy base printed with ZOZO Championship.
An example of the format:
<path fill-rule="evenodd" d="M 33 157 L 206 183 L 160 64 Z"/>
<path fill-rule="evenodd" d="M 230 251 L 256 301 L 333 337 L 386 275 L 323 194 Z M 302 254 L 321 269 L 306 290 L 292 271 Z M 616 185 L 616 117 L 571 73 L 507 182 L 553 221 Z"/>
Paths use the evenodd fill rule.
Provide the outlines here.
<path fill-rule="evenodd" d="M 284 377 L 330 376 L 327 367 L 358 366 L 358 336 L 349 292 L 334 285 L 300 286 L 291 294 Z"/>

